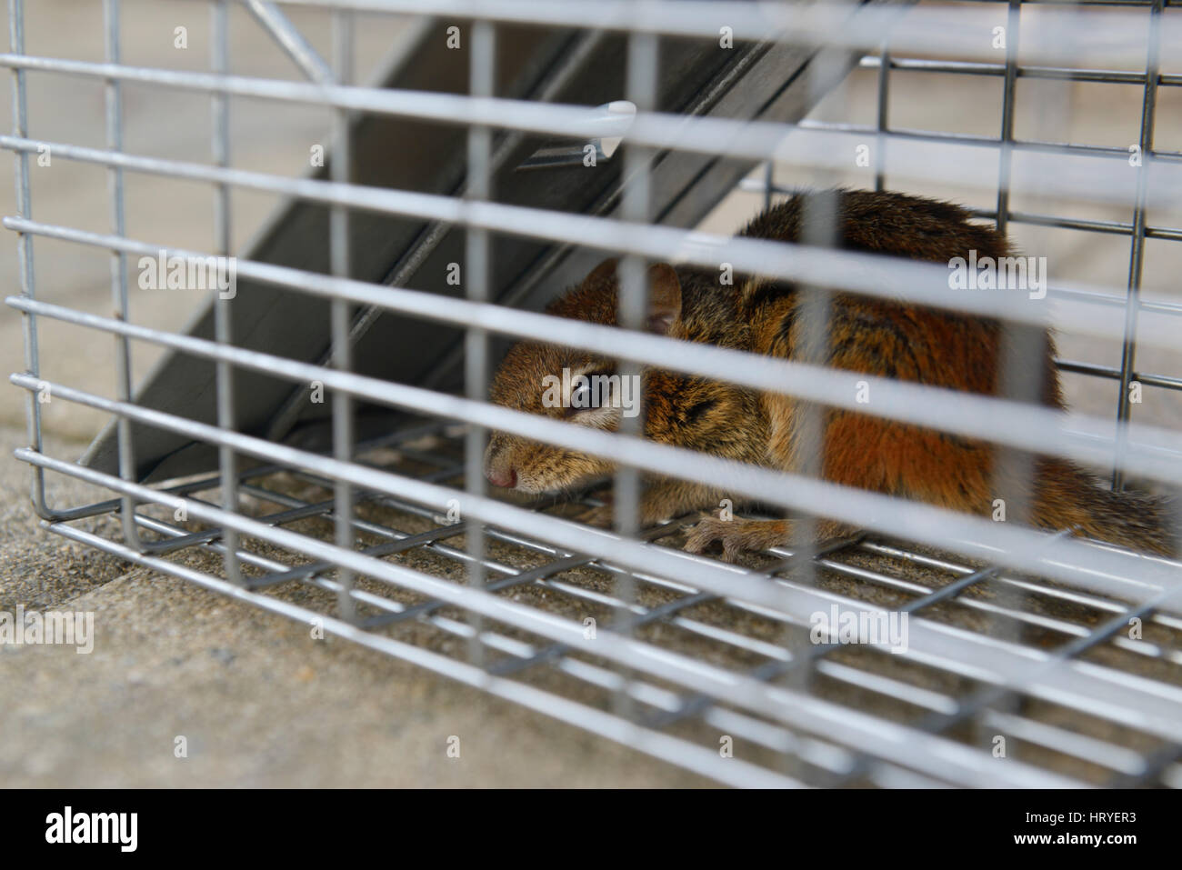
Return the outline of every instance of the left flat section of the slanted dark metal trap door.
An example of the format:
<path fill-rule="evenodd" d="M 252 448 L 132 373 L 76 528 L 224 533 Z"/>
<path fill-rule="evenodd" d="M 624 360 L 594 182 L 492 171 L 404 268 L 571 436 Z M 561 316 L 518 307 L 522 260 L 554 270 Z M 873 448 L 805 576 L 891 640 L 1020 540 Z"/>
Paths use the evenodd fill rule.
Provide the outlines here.
<path fill-rule="evenodd" d="M 382 76 L 383 86 L 463 93 L 468 87 L 467 52 L 446 47 L 443 22 L 418 26 L 418 38 Z M 570 41 L 571 34 L 540 28 L 500 28 L 499 80 L 505 96 L 527 97 L 537 89 Z M 353 168 L 359 183 L 375 187 L 453 193 L 463 178 L 467 132 L 462 126 L 368 116 L 352 126 Z M 313 174 L 326 178 L 329 168 Z M 379 283 L 391 264 L 405 258 L 426 231 L 423 221 L 355 212 L 350 226 L 352 274 Z M 290 202 L 243 258 L 329 273 L 329 209 Z M 230 304 L 234 343 L 296 359 L 314 361 L 330 348 L 329 304 L 306 294 L 253 281 L 240 281 Z M 189 332 L 213 338 L 213 309 Z M 395 371 L 397 368 L 394 369 Z M 194 420 L 216 421 L 215 366 L 208 361 L 170 353 L 139 387 L 136 402 Z M 292 384 L 265 375 L 235 371 L 235 418 L 247 433 L 267 431 Z M 307 391 L 305 390 L 305 394 Z M 148 427 L 132 428 L 137 476 L 161 480 L 216 466 L 216 450 Z M 113 426 L 96 439 L 83 460 L 102 470 L 118 468 Z"/>

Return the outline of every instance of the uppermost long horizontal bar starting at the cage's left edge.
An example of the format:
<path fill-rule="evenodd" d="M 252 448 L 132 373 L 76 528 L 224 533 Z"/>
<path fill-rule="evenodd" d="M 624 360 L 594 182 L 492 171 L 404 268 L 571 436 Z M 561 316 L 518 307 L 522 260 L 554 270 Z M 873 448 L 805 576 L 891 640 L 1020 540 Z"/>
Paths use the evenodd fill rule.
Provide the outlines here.
<path fill-rule="evenodd" d="M 877 128 L 857 124 L 806 121 L 792 125 L 661 112 L 639 112 L 634 117 L 611 111 L 609 105 L 589 108 L 427 91 L 312 85 L 282 79 L 216 76 L 25 54 L 0 53 L 0 66 L 331 105 L 446 124 L 508 128 L 546 136 L 599 138 L 626 134 L 629 142 L 654 148 L 755 161 L 774 160 L 830 169 L 847 168 L 849 155 L 862 144 L 863 137 L 873 135 L 873 141 L 885 147 L 879 161 L 884 171 L 928 181 L 942 178 L 960 184 L 976 183 L 982 187 L 994 184 L 995 180 L 974 170 L 981 165 L 982 160 L 995 160 L 995 152 L 1001 147 L 995 138 L 959 134 L 905 130 L 883 132 Z M 892 148 L 895 144 L 916 141 L 941 148 L 935 152 L 931 150 L 920 152 L 910 144 L 905 149 Z M 48 143 L 38 143 L 43 144 Z M 1046 195 L 1083 201 L 1108 200 L 1117 204 L 1132 203 L 1134 193 L 1129 190 L 1128 184 L 1126 150 L 1041 142 L 1018 142 L 1013 144 L 1012 150 L 1019 161 L 1045 158 L 1043 164 L 1032 164 L 1026 169 L 1019 162 L 1014 171 L 1018 173 L 1017 177 L 1021 177 L 1022 173 L 1027 173 L 1032 178 L 1037 177 L 1040 189 Z M 57 154 L 57 151 L 51 152 Z M 1110 157 L 1112 161 L 1089 167 L 1087 184 L 1080 187 L 1078 178 L 1072 175 L 1073 168 L 1063 163 L 1064 155 Z M 1147 167 L 1154 174 L 1154 196 L 1160 197 L 1163 203 L 1171 202 L 1171 197 L 1182 197 L 1182 167 L 1171 165 L 1162 160 L 1168 156 L 1182 157 L 1167 152 L 1150 152 L 1145 156 Z M 1155 157 L 1156 160 L 1151 161 Z M 974 178 L 978 181 L 974 182 Z"/>

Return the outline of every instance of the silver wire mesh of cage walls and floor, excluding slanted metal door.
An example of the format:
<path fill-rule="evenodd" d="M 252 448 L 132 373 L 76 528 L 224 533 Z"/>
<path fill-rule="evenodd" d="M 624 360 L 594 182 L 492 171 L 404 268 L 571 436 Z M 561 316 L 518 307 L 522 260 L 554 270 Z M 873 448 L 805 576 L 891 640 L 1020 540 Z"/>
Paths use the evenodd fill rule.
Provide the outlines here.
<path fill-rule="evenodd" d="M 799 474 L 741 468 L 683 449 L 643 441 L 639 423 L 619 434 L 583 429 L 491 405 L 493 336 L 540 335 L 618 357 L 631 369 L 660 365 L 722 377 L 814 403 L 856 408 L 845 400 L 849 378 L 807 362 L 778 362 L 717 348 L 687 349 L 671 339 L 560 322 L 499 305 L 491 264 L 496 234 L 622 254 L 622 325 L 643 314 L 643 266 L 676 259 L 798 281 L 824 312 L 829 288 L 908 299 L 1006 323 L 1047 323 L 1046 306 L 1021 298 L 950 297 L 947 273 L 924 264 L 891 262 L 829 248 L 832 226 L 821 221 L 810 246 L 725 240 L 660 226 L 651 180 L 670 150 L 767 161 L 762 180 L 746 189 L 766 202 L 791 193 L 775 183 L 774 165 L 799 165 L 825 182 L 849 144 L 877 144 L 871 183 L 896 176 L 956 177 L 987 163 L 996 191 L 981 219 L 1129 238 L 1126 287 L 1052 286 L 1051 323 L 1121 342 L 1119 365 L 1060 358 L 1060 370 L 1119 385 L 1111 420 L 1058 415 L 1025 404 L 1021 384 L 1006 398 L 948 404 L 941 391 L 868 378 L 876 413 L 1006 447 L 1038 450 L 1125 475 L 1182 485 L 1176 433 L 1134 426 L 1130 385 L 1177 390 L 1176 372 L 1142 371 L 1138 344 L 1176 345 L 1182 304 L 1142 293 L 1145 240 L 1182 240 L 1182 227 L 1150 222 L 1154 202 L 1182 191 L 1182 152 L 1154 147 L 1160 89 L 1182 85 L 1177 50 L 1182 13 L 1175 2 L 1034 4 L 1030 0 L 926 7 L 901 17 L 890 4 L 700 2 L 434 2 L 429 13 L 465 24 L 469 95 L 391 91 L 349 84 L 352 15 L 358 9 L 423 13 L 422 4 L 394 0 L 246 4 L 288 51 L 310 84 L 228 74 L 227 4 L 213 0 L 209 73 L 125 66 L 119 63 L 119 4 L 106 0 L 106 63 L 25 54 L 22 2 L 9 0 L 9 53 L 14 129 L 0 137 L 13 151 L 18 215 L 5 226 L 18 234 L 20 296 L 8 304 L 25 318 L 26 371 L 12 381 L 28 391 L 30 447 L 18 457 L 33 466 L 33 500 L 48 528 L 129 561 L 145 565 L 299 619 L 392 656 L 624 742 L 657 758 L 733 785 L 1182 785 L 1182 597 L 1177 563 L 1044 534 L 1017 525 L 954 514 L 884 495 L 845 491 Z M 291 27 L 285 5 L 331 9 L 333 58 L 322 60 Z M 1004 6 L 1002 63 L 988 59 L 959 22 L 974 9 Z M 1059 35 L 1043 45 L 1046 64 L 1019 63 L 1026 6 L 1061 13 Z M 1071 46 L 1095 35 L 1099 7 L 1115 34 L 1116 58 L 1136 58 L 1141 71 L 1071 66 Z M 1106 11 L 1106 9 L 1105 9 Z M 612 218 L 558 213 L 498 202 L 492 189 L 496 136 L 505 130 L 561 131 L 579 139 L 602 135 L 602 117 L 582 106 L 494 96 L 498 27 L 606 28 L 628 34 L 626 85 L 636 106 L 624 131 L 625 165 Z M 904 26 L 896 27 L 898 21 Z M 662 39 L 735 39 L 791 43 L 816 52 L 805 72 L 814 100 L 844 70 L 826 51 L 855 50 L 877 71 L 875 124 L 795 124 L 674 116 L 657 109 Z M 1123 28 L 1122 28 L 1123 27 Z M 965 28 L 967 30 L 967 28 Z M 911 57 L 937 53 L 940 58 Z M 889 34 L 889 41 L 885 35 Z M 1148 34 L 1148 35 L 1147 35 Z M 974 37 L 975 38 L 975 37 Z M 1073 41 L 1076 40 L 1076 41 Z M 829 58 L 826 60 L 826 58 Z M 31 135 L 25 77 L 33 71 L 98 78 L 106 83 L 106 147 L 46 143 Z M 897 71 L 1001 79 L 995 138 L 890 123 L 890 84 Z M 1139 163 L 1118 173 L 1130 151 L 1082 143 L 1027 141 L 1014 128 L 1021 78 L 1135 85 L 1142 90 Z M 207 92 L 213 103 L 212 160 L 196 164 L 123 152 L 121 87 L 134 82 Z M 335 111 L 330 175 L 288 178 L 234 169 L 228 112 L 235 97 L 331 106 Z M 813 100 L 813 102 L 814 102 Z M 466 182 L 459 195 L 369 187 L 355 177 L 349 155 L 357 113 L 462 124 L 467 128 Z M 868 138 L 869 137 L 869 138 Z M 834 142 L 842 142 L 838 148 Z M 28 161 L 43 147 L 56 157 L 109 168 L 111 232 L 100 234 L 40 223 L 32 218 Z M 927 150 L 924 150 L 927 149 Z M 1082 161 L 1077 164 L 1074 162 Z M 1126 167 L 1125 167 L 1126 169 Z M 214 247 L 181 251 L 128 238 L 123 174 L 183 177 L 214 186 Z M 1080 176 L 1079 173 L 1083 173 Z M 1015 210 L 1012 193 L 1041 177 L 1048 197 L 1126 207 L 1129 220 L 1098 220 Z M 836 175 L 834 175 L 836 177 Z M 1078 183 L 1085 177 L 1086 186 Z M 821 184 L 824 186 L 824 184 Z M 128 258 L 165 249 L 183 257 L 227 255 L 229 196 L 265 190 L 331 209 L 329 274 L 241 259 L 238 275 L 331 304 L 331 353 L 297 361 L 281 349 L 259 352 L 234 335 L 232 300 L 213 303 L 213 339 L 135 324 L 130 317 Z M 358 210 L 466 228 L 465 296 L 454 298 L 389 287 L 352 277 L 350 220 Z M 33 241 L 59 239 L 111 252 L 115 314 L 103 318 L 39 301 Z M 368 306 L 385 316 L 422 318 L 462 327 L 465 395 L 378 379 L 355 371 L 352 330 Z M 1115 318 L 1112 312 L 1121 311 Z M 1165 322 L 1143 322 L 1145 312 Z M 113 398 L 46 383 L 40 376 L 37 324 L 47 318 L 117 339 Z M 824 314 L 818 316 L 824 323 Z M 213 361 L 216 420 L 202 422 L 145 407 L 132 389 L 130 345 L 145 342 Z M 332 447 L 314 453 L 238 430 L 235 371 L 266 372 L 296 385 L 322 383 L 332 392 Z M 110 474 L 43 450 L 38 391 L 111 414 L 117 421 L 118 469 Z M 358 441 L 359 401 L 413 413 L 392 434 Z M 217 448 L 216 473 L 145 483 L 138 473 L 134 426 L 152 427 Z M 489 429 L 517 433 L 571 449 L 615 456 L 616 533 L 564 519 L 593 496 L 544 508 L 507 504 L 485 487 L 482 452 Z M 840 517 L 865 530 L 817 548 L 769 550 L 742 567 L 681 551 L 677 518 L 639 528 L 642 470 L 717 483 L 758 499 L 769 509 Z M 113 498 L 56 507 L 46 473 L 108 488 Z M 77 520 L 118 513 L 122 539 L 85 531 Z M 183 518 L 183 519 L 178 519 Z M 183 556 L 184 560 L 177 557 Z M 200 564 L 201 567 L 195 567 Z M 836 624 L 842 613 L 905 618 L 908 648 L 817 642 L 816 615 Z M 1144 624 L 1129 635 L 1130 621 Z M 1008 749 L 996 752 L 996 738 Z"/>

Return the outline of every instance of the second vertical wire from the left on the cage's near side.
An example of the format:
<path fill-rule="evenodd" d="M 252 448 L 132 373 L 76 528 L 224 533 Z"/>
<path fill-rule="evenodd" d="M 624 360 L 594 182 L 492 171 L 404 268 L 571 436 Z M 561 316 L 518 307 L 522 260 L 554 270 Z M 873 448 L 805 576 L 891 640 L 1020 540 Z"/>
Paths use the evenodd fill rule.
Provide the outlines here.
<path fill-rule="evenodd" d="M 106 61 L 119 63 L 119 0 L 103 0 L 103 24 L 106 33 Z M 123 98 L 119 83 L 106 79 L 106 147 L 112 151 L 123 150 Z M 125 235 L 123 216 L 123 170 L 111 167 L 106 171 L 111 193 L 111 229 L 115 235 Z M 119 251 L 111 252 L 111 301 L 115 317 L 130 320 L 128 310 L 128 258 Z M 131 342 L 125 336 L 115 338 L 116 396 L 122 402 L 131 401 Z M 136 480 L 136 461 L 131 442 L 131 421 L 118 417 L 116 423 L 119 443 L 119 476 Z M 136 502 L 130 495 L 123 496 L 123 534 L 128 544 L 143 551 L 139 530 L 136 527 Z"/>

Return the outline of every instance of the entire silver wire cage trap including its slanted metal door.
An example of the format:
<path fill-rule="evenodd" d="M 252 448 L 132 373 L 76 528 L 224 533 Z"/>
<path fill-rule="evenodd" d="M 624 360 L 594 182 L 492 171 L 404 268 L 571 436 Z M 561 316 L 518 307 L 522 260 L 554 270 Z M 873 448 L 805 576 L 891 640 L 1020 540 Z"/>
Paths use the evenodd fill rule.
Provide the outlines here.
<path fill-rule="evenodd" d="M 726 262 L 810 299 L 840 290 L 1000 318 L 1019 344 L 1022 327 L 1053 326 L 1080 410 L 1020 391 L 949 405 L 936 388 L 871 377 L 875 414 L 1102 468 L 1113 488 L 1177 486 L 1182 299 L 1173 248 L 1155 246 L 1182 241 L 1182 142 L 1155 131 L 1182 93 L 1178 2 L 246 0 L 293 61 L 299 78 L 284 80 L 233 73 L 232 5 L 208 2 L 199 72 L 123 64 L 118 0 L 104 2 L 103 63 L 26 53 L 24 2 L 8 2 L 14 124 L 0 144 L 14 155 L 18 213 L 4 223 L 20 293 L 7 304 L 25 326 L 11 379 L 27 392 L 18 459 L 50 531 L 722 784 L 1182 785 L 1177 561 L 736 466 L 647 441 L 638 420 L 609 433 L 488 401 L 505 342 L 545 337 L 624 372 L 857 410 L 838 370 L 538 311 L 609 255 L 634 312 L 645 288 L 626 275 L 645 262 Z M 330 59 L 288 7 L 323 12 Z M 369 86 L 352 84 L 362 13 L 403 15 L 408 34 Z M 104 147 L 30 129 L 26 78 L 41 74 L 105 84 Z M 125 151 L 131 85 L 207 95 L 210 160 Z M 1083 124 L 1092 92 L 1072 89 L 1085 87 L 1118 90 L 1136 123 L 1086 139 L 1104 119 Z M 917 95 L 970 102 L 973 130 L 948 106 L 910 126 Z M 323 168 L 234 168 L 228 119 L 246 99 L 331 109 Z M 31 163 L 46 150 L 106 169 L 110 232 L 35 220 Z M 209 186 L 210 248 L 130 235 L 130 175 Z M 972 190 L 974 216 L 1027 253 L 1119 242 L 1103 257 L 1122 278 L 1053 264 L 1045 299 L 950 293 L 940 265 L 826 246 L 823 218 L 807 245 L 709 229 L 723 200 L 749 218 L 798 184 Z M 239 190 L 284 199 L 229 260 Z M 41 239 L 110 253 L 112 316 L 38 299 Z M 145 260 L 163 272 L 170 258 L 234 270 L 235 290 L 204 287 L 187 331 L 134 317 Z M 453 265 L 462 280 L 448 281 Z M 46 375 L 46 322 L 113 336 L 108 395 Z M 137 344 L 165 351 L 147 375 L 131 370 Z M 1136 418 L 1142 390 L 1163 409 L 1152 420 Z M 46 452 L 46 396 L 109 416 L 80 461 Z M 489 488 L 489 430 L 616 460 L 616 527 L 571 519 L 602 489 L 539 505 Z M 694 517 L 637 527 L 642 473 L 862 531 L 738 564 L 690 554 Z M 60 475 L 109 498 L 53 504 Z M 829 632 L 849 616 L 894 619 L 905 644 Z"/>

